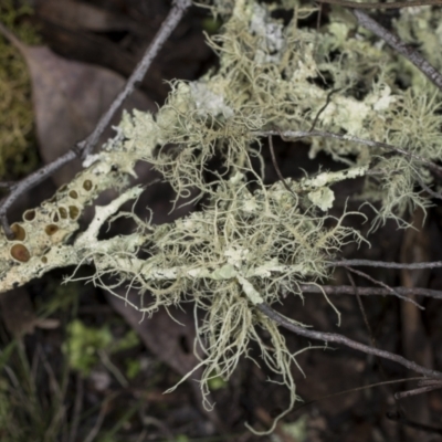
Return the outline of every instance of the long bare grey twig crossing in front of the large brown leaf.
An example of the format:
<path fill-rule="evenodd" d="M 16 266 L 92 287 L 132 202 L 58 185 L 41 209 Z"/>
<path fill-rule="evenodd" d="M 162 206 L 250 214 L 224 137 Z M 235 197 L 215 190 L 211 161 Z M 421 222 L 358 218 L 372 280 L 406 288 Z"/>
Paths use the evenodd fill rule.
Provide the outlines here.
<path fill-rule="evenodd" d="M 191 0 L 175 0 L 172 9 L 167 15 L 166 20 L 161 24 L 161 28 L 155 35 L 154 41 L 147 48 L 141 61 L 136 66 L 135 71 L 127 80 L 124 90 L 117 95 L 117 97 L 112 103 L 107 112 L 102 116 L 98 124 L 91 135 L 88 135 L 84 140 L 77 143 L 69 152 L 57 158 L 55 161 L 42 167 L 40 170 L 31 173 L 29 177 L 24 178 L 18 183 L 10 187 L 10 193 L 1 201 L 0 207 L 0 223 L 4 230 L 8 239 L 13 239 L 13 233 L 8 223 L 8 210 L 17 201 L 17 199 L 24 193 L 27 190 L 32 189 L 41 181 L 50 177 L 53 172 L 59 170 L 64 165 L 72 161 L 74 158 L 85 158 L 91 154 L 92 149 L 95 147 L 98 138 L 103 131 L 108 126 L 110 119 L 115 113 L 119 109 L 123 102 L 133 93 L 137 82 L 140 82 L 146 75 L 151 62 L 157 56 L 158 52 L 170 36 L 171 32 L 177 27 L 178 22 L 181 20 L 186 10 L 190 7 Z"/>

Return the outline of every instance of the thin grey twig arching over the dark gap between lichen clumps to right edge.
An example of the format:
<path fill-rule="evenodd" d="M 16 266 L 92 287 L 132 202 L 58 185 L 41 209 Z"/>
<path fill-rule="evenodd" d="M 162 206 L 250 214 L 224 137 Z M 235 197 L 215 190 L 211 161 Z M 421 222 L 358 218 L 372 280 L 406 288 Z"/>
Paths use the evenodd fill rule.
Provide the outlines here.
<path fill-rule="evenodd" d="M 280 135 L 281 138 L 283 138 L 285 141 L 301 139 L 301 138 L 308 138 L 308 137 L 325 137 L 325 138 L 340 139 L 341 141 L 355 141 L 355 143 L 359 143 L 361 145 L 369 146 L 369 147 L 379 147 L 381 149 L 389 149 L 389 150 L 396 151 L 398 154 L 401 154 L 406 157 L 414 158 L 415 160 L 428 166 L 429 169 L 435 171 L 438 175 L 442 175 L 441 166 L 434 165 L 433 162 L 427 160 L 425 158 L 420 157 L 419 155 L 409 152 L 404 149 L 401 149 L 400 147 L 389 145 L 388 143 L 373 141 L 371 139 L 358 138 L 358 137 L 348 136 L 348 135 L 339 135 L 339 134 L 335 134 L 335 133 L 326 131 L 326 130 L 313 130 L 313 131 L 307 131 L 307 130 L 284 130 L 284 131 L 265 130 L 265 131 L 255 131 L 254 135 L 256 135 L 259 137 L 269 137 L 271 135 Z"/>

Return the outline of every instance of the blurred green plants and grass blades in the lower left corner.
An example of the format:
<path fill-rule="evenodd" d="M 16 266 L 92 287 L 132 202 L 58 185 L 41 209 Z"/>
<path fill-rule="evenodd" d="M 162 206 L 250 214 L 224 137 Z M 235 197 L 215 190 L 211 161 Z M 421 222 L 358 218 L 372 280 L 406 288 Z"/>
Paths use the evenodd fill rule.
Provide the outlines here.
<path fill-rule="evenodd" d="M 78 287 L 77 283 L 60 285 L 60 281 L 54 280 L 44 290 L 54 296 L 34 299 L 40 319 L 55 316 L 60 320 L 60 328 L 51 332 L 52 338 L 48 340 L 45 332 L 35 332 L 40 334 L 36 341 L 33 336 L 10 340 L 0 324 L 1 442 L 83 441 L 92 438 L 95 431 L 94 440 L 98 442 L 123 441 L 119 434 L 139 410 L 141 402 L 131 401 L 106 424 L 94 427 L 97 419 L 102 419 L 99 415 L 107 414 L 108 403 L 117 400 L 119 393 L 110 389 L 102 401 L 92 404 L 84 397 L 85 387 L 80 383 L 91 382 L 85 378 L 101 365 L 119 385 L 126 382 L 127 386 L 108 355 L 139 345 L 139 338 L 127 327 L 123 333 L 115 332 L 124 324 L 119 318 L 103 326 L 90 326 L 80 320 Z M 55 302 L 63 298 L 63 303 Z M 59 338 L 63 339 L 63 351 L 56 344 Z M 42 341 L 45 344 L 38 344 Z M 139 360 L 124 354 L 117 358 L 127 369 L 128 379 L 139 373 Z"/>

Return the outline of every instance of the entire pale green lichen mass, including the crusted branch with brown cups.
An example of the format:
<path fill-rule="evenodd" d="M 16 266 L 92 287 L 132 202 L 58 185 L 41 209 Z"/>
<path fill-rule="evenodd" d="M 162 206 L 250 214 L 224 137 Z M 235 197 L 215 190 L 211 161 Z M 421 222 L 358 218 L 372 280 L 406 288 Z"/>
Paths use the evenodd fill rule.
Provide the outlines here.
<path fill-rule="evenodd" d="M 25 212 L 12 225 L 13 240 L 0 238 L 0 291 L 51 269 L 90 263 L 96 269 L 93 282 L 110 292 L 119 285 L 140 296 L 150 293 L 151 305 L 134 306 L 146 313 L 193 301 L 204 313 L 198 330 L 206 352 L 203 392 L 211 376 L 229 378 L 254 340 L 275 380 L 290 388 L 292 407 L 296 355 L 254 306 L 288 293 L 302 296 L 301 283 L 324 281 L 327 262 L 341 246 L 362 240 L 344 225 L 348 213 L 328 214 L 332 185 L 366 176 L 358 197 L 376 204 L 375 227 L 387 218 L 400 222 L 415 204 L 428 206 L 414 188 L 432 185 L 423 165 L 442 154 L 440 96 L 422 82 L 419 95 L 400 90 L 396 55 L 358 33 L 341 12 L 332 12 L 329 24 L 316 32 L 298 28 L 298 19 L 314 9 L 296 2 L 286 25 L 271 17 L 273 4 L 217 0 L 214 8 L 225 22 L 209 41 L 220 57 L 218 71 L 197 82 L 175 82 L 155 116 L 125 114 L 115 139 L 86 159 L 83 172 L 52 200 Z M 308 131 L 315 119 L 315 130 L 345 138 L 307 137 L 312 159 L 324 150 L 345 169 L 264 186 L 263 167 L 255 170 L 251 161 L 255 157 L 263 166 L 262 133 Z M 386 156 L 383 148 L 358 145 L 354 137 L 402 150 Z M 208 183 L 204 176 L 214 156 L 220 167 L 210 171 L 214 178 Z M 177 199 L 200 200 L 201 211 L 160 227 L 131 213 L 137 231 L 98 240 L 99 229 L 143 190 L 131 188 L 96 207 L 86 231 L 72 238 L 84 207 L 107 188 L 127 187 L 137 160 L 152 164 Z M 148 257 L 140 259 L 139 252 Z M 113 287 L 106 275 L 116 277 Z M 269 332 L 271 345 L 263 344 L 260 329 Z"/>

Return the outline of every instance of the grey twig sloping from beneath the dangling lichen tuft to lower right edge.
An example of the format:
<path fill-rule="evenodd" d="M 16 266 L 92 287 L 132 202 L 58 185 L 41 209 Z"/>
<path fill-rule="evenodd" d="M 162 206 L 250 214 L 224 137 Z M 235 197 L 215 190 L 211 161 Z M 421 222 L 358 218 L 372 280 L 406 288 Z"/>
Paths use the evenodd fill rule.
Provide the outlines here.
<path fill-rule="evenodd" d="M 311 338 L 311 339 L 323 340 L 325 343 L 340 344 L 340 345 L 344 345 L 346 347 L 352 348 L 358 351 L 362 351 L 368 355 L 375 355 L 375 356 L 379 356 L 380 358 L 383 358 L 383 359 L 392 360 L 392 361 L 400 364 L 401 366 L 403 366 L 410 370 L 413 370 L 415 372 L 419 372 L 423 376 L 442 379 L 441 371 L 431 370 L 429 368 L 422 367 L 419 364 L 408 360 L 402 356 L 394 355 L 390 351 L 380 350 L 378 348 L 372 348 L 370 346 L 367 346 L 365 344 L 349 339 L 346 336 L 338 335 L 336 333 L 317 332 L 317 330 L 312 330 L 312 329 L 301 327 L 301 326 L 294 324 L 293 322 L 291 322 L 285 316 L 281 315 L 280 313 L 274 311 L 266 303 L 256 304 L 256 308 L 261 313 L 263 313 L 265 316 L 267 316 L 270 319 L 274 320 L 276 324 L 283 326 L 284 328 L 287 328 L 288 330 L 294 332 L 296 335 L 304 336 L 304 337 Z"/>

